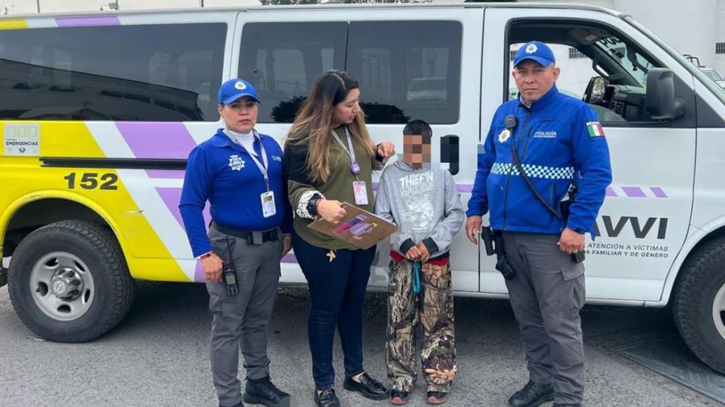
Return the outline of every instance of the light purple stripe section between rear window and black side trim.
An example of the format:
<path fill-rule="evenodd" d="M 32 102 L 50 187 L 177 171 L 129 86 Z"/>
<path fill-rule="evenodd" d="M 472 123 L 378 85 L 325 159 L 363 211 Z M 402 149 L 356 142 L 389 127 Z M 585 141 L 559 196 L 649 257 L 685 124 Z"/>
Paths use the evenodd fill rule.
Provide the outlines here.
<path fill-rule="evenodd" d="M 117 122 L 137 159 L 186 159 L 196 142 L 183 123 Z"/>

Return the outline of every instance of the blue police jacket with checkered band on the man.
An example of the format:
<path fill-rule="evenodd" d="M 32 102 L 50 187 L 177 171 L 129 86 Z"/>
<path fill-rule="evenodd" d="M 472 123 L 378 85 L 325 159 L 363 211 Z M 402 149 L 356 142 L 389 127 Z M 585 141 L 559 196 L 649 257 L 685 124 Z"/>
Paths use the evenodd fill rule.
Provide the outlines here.
<path fill-rule="evenodd" d="M 504 119 L 515 114 L 507 134 Z M 513 165 L 511 146 L 531 182 L 557 211 L 571 183 L 579 188 L 568 221 L 551 214 L 534 196 Z M 597 212 L 612 181 L 609 148 L 597 114 L 583 101 L 560 93 L 556 86 L 531 105 L 518 100 L 494 114 L 473 184 L 468 216 L 490 210 L 494 230 L 558 234 L 564 227 L 594 237 Z"/>

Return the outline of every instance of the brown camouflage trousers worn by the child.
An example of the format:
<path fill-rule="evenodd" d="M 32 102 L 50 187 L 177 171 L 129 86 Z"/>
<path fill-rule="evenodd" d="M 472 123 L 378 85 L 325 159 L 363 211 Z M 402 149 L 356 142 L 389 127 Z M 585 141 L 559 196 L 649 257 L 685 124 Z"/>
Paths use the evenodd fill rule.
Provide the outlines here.
<path fill-rule="evenodd" d="M 450 392 L 455 377 L 453 291 L 449 264 L 423 264 L 413 293 L 413 262 L 391 261 L 385 361 L 395 390 L 410 392 L 418 377 L 415 339 L 423 325 L 421 360 L 428 391 Z"/>

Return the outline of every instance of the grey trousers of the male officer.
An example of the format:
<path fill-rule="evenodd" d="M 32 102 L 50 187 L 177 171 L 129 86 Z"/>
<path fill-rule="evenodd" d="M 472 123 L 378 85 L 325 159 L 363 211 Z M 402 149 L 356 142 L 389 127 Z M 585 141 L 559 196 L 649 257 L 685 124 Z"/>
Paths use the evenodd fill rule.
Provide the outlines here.
<path fill-rule="evenodd" d="M 506 286 L 526 345 L 529 379 L 540 385 L 553 383 L 554 403 L 581 403 L 584 264 L 559 250 L 559 235 L 502 234 L 506 260 L 516 272 Z"/>

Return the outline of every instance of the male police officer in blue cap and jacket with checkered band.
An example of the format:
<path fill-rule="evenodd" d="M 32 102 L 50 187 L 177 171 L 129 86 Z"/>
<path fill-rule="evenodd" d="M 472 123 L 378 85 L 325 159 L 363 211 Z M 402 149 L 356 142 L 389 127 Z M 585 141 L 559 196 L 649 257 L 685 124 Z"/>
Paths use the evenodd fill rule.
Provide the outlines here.
<path fill-rule="evenodd" d="M 595 112 L 556 88 L 560 71 L 547 45 L 526 43 L 513 66 L 519 98 L 494 114 L 466 232 L 475 244 L 481 215 L 490 210 L 497 269 L 506 277 L 529 369 L 529 383 L 509 405 L 553 399 L 556 407 L 576 407 L 584 393 L 581 253 L 612 179 L 609 149 Z M 566 196 L 573 201 L 563 203 Z"/>

